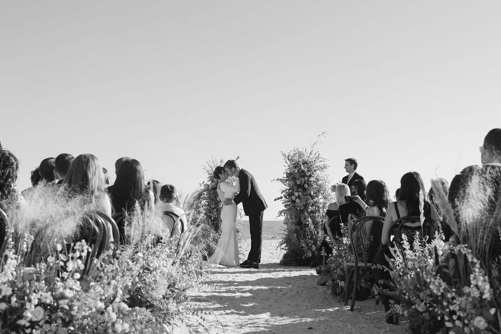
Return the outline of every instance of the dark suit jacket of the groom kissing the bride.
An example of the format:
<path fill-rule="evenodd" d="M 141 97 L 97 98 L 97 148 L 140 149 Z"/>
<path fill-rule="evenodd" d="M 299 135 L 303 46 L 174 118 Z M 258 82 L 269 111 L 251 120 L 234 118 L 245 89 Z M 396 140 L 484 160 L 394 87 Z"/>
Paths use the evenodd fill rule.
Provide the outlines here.
<path fill-rule="evenodd" d="M 240 192 L 233 198 L 235 204 L 242 203 L 246 216 L 264 211 L 268 205 L 254 176 L 242 168 L 238 173 L 238 181 L 240 182 Z"/>

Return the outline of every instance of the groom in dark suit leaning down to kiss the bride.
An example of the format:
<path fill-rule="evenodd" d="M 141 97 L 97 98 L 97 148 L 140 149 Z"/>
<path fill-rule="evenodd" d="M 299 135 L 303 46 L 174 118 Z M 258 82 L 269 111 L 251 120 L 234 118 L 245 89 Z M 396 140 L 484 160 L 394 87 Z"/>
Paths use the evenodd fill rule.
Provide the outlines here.
<path fill-rule="evenodd" d="M 259 191 L 258 182 L 252 174 L 245 169 L 240 169 L 235 160 L 228 160 L 224 164 L 224 170 L 229 176 L 238 176 L 240 192 L 235 198 L 226 198 L 225 205 L 232 202 L 242 203 L 243 212 L 249 217 L 250 227 L 250 251 L 247 259 L 240 264 L 242 268 L 259 268 L 261 262 L 261 231 L 263 229 L 263 213 L 268 207 L 265 198 Z"/>

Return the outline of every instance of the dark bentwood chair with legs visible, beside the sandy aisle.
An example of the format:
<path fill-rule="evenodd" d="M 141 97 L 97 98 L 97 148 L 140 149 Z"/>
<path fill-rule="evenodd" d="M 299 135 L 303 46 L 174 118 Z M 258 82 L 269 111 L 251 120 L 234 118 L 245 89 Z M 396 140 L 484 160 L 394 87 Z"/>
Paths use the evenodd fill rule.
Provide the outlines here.
<path fill-rule="evenodd" d="M 370 240 L 368 233 L 363 233 L 365 224 L 372 222 L 373 224 L 384 224 L 384 218 L 379 216 L 365 216 L 358 218 L 349 226 L 350 245 L 352 249 L 353 262 L 346 262 L 345 267 L 345 305 L 348 305 L 348 286 L 353 277 L 353 290 L 351 296 L 350 311 L 355 307 L 357 299 L 358 286 L 362 273 L 372 269 L 372 259 L 367 259 L 367 248 L 369 248 Z M 380 238 L 381 236 L 379 236 Z M 377 238 L 377 237 L 376 237 Z"/>

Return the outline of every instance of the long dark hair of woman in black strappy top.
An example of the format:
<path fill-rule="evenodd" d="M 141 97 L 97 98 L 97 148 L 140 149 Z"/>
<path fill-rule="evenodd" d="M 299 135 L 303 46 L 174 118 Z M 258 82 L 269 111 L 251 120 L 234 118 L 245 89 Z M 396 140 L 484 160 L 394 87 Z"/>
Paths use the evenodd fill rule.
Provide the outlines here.
<path fill-rule="evenodd" d="M 400 179 L 400 194 L 398 200 L 405 201 L 408 215 L 421 212 L 419 194 L 422 196 L 423 205 L 426 205 L 428 200 L 425 196 L 426 190 L 424 189 L 423 178 L 418 172 L 405 173 Z"/>

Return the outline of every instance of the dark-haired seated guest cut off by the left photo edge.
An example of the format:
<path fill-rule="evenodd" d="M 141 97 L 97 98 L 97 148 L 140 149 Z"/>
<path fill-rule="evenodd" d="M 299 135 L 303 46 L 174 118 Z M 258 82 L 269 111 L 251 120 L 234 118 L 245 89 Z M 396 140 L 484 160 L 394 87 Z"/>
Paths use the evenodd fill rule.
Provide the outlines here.
<path fill-rule="evenodd" d="M 23 200 L 16 187 L 18 173 L 18 158 L 11 151 L 0 149 L 0 209 L 7 213 Z"/>

